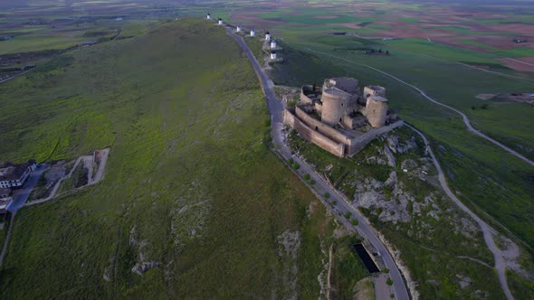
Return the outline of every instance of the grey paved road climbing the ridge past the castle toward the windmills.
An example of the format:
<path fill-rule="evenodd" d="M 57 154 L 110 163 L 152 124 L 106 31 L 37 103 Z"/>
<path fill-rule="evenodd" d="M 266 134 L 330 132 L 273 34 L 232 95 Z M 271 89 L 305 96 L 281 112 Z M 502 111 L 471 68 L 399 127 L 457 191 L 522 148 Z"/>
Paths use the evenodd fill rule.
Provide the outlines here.
<path fill-rule="evenodd" d="M 243 38 L 233 32 L 233 30 L 227 28 L 226 32 L 234 38 L 234 40 L 239 44 L 239 46 L 242 48 L 243 52 L 246 53 L 249 61 L 251 61 L 253 65 L 253 70 L 256 72 L 256 75 L 258 76 L 261 84 L 262 84 L 262 90 L 265 94 L 265 97 L 267 99 L 267 108 L 269 108 L 269 112 L 271 114 L 272 119 L 272 140 L 275 145 L 276 150 L 278 153 L 285 159 L 293 158 L 293 160 L 300 164 L 300 178 L 302 179 L 303 174 L 309 173 L 310 177 L 315 180 L 315 185 L 313 186 L 312 191 L 319 195 L 324 195 L 326 192 L 329 192 L 331 195 L 329 199 L 323 199 L 327 202 L 337 202 L 335 211 L 339 214 L 337 217 L 341 222 L 343 222 L 347 227 L 354 228 L 348 220 L 346 220 L 342 215 L 345 213 L 350 214 L 351 219 L 357 219 L 359 224 L 356 227 L 358 230 L 358 233 L 364 238 L 367 239 L 367 241 L 377 250 L 378 255 L 382 257 L 384 260 L 385 266 L 389 269 L 389 276 L 393 279 L 393 289 L 396 295 L 396 299 L 400 300 L 408 300 L 409 295 L 408 291 L 405 286 L 405 282 L 403 280 L 403 277 L 401 276 L 401 273 L 396 267 L 395 260 L 391 256 L 391 254 L 387 251 L 386 246 L 378 239 L 377 232 L 367 223 L 367 220 L 364 216 L 360 214 L 359 211 L 355 210 L 339 193 L 329 185 L 323 178 L 319 177 L 317 173 L 313 171 L 313 169 L 310 168 L 310 166 L 306 163 L 304 163 L 300 157 L 291 156 L 291 150 L 288 145 L 285 144 L 284 137 L 282 134 L 282 112 L 283 112 L 283 105 L 281 101 L 279 101 L 275 96 L 274 92 L 272 91 L 271 87 L 271 80 L 267 77 L 267 75 L 263 72 L 260 64 L 258 61 L 256 61 L 253 52 L 248 48 L 248 45 L 246 42 L 244 42 Z"/>

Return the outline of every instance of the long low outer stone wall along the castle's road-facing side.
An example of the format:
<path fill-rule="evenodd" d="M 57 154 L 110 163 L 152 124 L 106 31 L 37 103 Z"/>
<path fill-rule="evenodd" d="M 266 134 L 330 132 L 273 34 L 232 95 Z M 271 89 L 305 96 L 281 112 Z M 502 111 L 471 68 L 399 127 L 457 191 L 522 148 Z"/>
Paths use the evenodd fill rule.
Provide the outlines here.
<path fill-rule="evenodd" d="M 319 145 L 319 147 L 325 149 L 332 155 L 339 157 L 345 155 L 345 145 L 331 140 L 328 136 L 324 136 L 319 131 L 313 130 L 304 122 L 300 121 L 300 119 L 293 115 L 288 109 L 283 110 L 283 123 L 297 130 L 300 136 L 304 139 L 315 145 Z"/>

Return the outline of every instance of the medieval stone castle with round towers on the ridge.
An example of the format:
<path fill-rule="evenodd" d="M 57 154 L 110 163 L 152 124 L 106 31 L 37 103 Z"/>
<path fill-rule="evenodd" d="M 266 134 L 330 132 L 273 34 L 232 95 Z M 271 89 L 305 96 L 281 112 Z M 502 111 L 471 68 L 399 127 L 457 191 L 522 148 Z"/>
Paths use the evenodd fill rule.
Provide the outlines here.
<path fill-rule="evenodd" d="M 322 89 L 304 85 L 300 102 L 285 108 L 283 122 L 333 155 L 351 156 L 375 137 L 403 125 L 387 108 L 386 89 L 358 87 L 353 78 L 324 80 Z"/>

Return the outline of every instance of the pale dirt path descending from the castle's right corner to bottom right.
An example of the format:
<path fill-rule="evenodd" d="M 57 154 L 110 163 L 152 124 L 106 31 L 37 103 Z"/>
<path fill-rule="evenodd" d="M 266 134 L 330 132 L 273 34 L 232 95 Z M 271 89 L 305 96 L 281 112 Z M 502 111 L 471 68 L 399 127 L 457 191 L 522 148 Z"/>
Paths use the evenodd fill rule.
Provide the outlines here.
<path fill-rule="evenodd" d="M 499 281 L 501 282 L 501 287 L 504 291 L 504 295 L 506 295 L 506 298 L 508 298 L 509 300 L 513 299 L 513 295 L 511 295 L 510 288 L 508 287 L 508 282 L 506 281 L 506 263 L 502 256 L 502 251 L 495 245 L 495 241 L 493 240 L 492 233 L 496 233 L 496 231 L 493 230 L 490 225 L 486 224 L 486 222 L 484 222 L 476 214 L 474 214 L 474 212 L 472 212 L 467 206 L 465 206 L 465 204 L 463 204 L 458 198 L 456 198 L 454 193 L 449 188 L 449 185 L 447 184 L 442 167 L 435 158 L 434 152 L 428 144 L 426 136 L 424 136 L 423 133 L 421 133 L 419 130 L 415 129 L 415 127 L 412 127 L 408 124 L 405 124 L 405 126 L 412 128 L 419 136 L 423 138 L 424 145 L 426 145 L 426 149 L 432 157 L 435 168 L 437 169 L 438 179 L 443 188 L 443 191 L 447 194 L 447 196 L 449 196 L 449 198 L 451 198 L 454 203 L 456 203 L 456 205 L 458 205 L 458 207 L 462 211 L 465 211 L 473 220 L 475 220 L 479 224 L 484 235 L 484 241 L 486 242 L 486 246 L 490 249 L 491 253 L 493 253 L 493 258 L 495 258 L 495 268 L 497 269 L 497 275 L 499 276 Z"/>

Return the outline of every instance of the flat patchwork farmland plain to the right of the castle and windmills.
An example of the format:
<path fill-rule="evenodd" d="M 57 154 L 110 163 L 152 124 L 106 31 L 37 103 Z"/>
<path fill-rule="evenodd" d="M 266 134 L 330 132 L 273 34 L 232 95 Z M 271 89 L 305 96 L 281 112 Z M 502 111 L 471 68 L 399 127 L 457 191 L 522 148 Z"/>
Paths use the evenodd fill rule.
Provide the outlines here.
<path fill-rule="evenodd" d="M 529 179 L 534 172 L 532 167 L 468 133 L 460 116 L 453 111 L 436 106 L 415 90 L 361 65 L 393 74 L 423 89 L 438 101 L 461 110 L 475 128 L 532 160 L 534 136 L 531 130 L 526 129 L 533 125 L 534 110 L 531 105 L 476 98 L 482 90 L 490 90 L 489 93 L 534 90 L 533 72 L 513 70 L 499 61 L 501 55 L 510 58 L 521 55 L 521 60 L 534 55 L 533 43 L 516 44 L 511 40 L 513 36 L 530 39 L 532 31 L 525 28 L 534 26 L 527 22 L 532 5 L 525 5 L 520 11 L 513 5 L 501 5 L 499 12 L 491 11 L 490 7 L 481 10 L 478 6 L 473 8 L 465 4 L 452 5 L 452 8 L 438 5 L 438 8 L 427 9 L 428 14 L 424 18 L 396 17 L 396 14 L 417 14 L 418 10 L 427 8 L 424 4 L 392 4 L 388 1 L 378 4 L 340 2 L 320 6 L 302 3 L 279 6 L 280 9 L 268 14 L 261 13 L 262 9 L 258 12 L 236 9 L 232 14 L 236 21 L 246 17 L 249 23 L 253 23 L 255 18 L 276 22 L 268 28 L 281 39 L 286 51 L 281 55 L 286 55 L 287 60 L 274 67 L 275 83 L 298 87 L 303 82 L 320 82 L 325 77 L 346 75 L 358 78 L 363 84 L 385 86 L 392 108 L 406 121 L 423 130 L 442 149 L 438 151 L 439 158 L 445 165 L 449 182 L 462 200 L 475 211 L 488 212 L 491 218 L 525 241 L 528 248 L 534 246 L 534 240 L 530 238 L 534 230 L 530 221 L 534 194 Z M 457 13 L 458 10 L 462 13 Z M 346 17 L 350 12 L 358 13 L 352 14 L 352 23 L 337 19 L 338 16 Z M 305 22 L 298 17 L 300 14 L 306 15 Z M 395 26 L 391 24 L 393 20 L 397 22 Z M 434 26 L 430 23 L 441 24 Z M 429 42 L 427 34 L 413 31 L 415 26 L 435 34 L 444 30 L 446 36 L 453 40 L 470 40 L 475 35 L 488 38 L 490 35 L 495 39 L 505 38 L 507 44 L 501 45 L 501 48 L 494 44 L 482 50 L 472 49 L 472 45 L 465 42 L 462 45 L 439 42 L 439 39 L 435 42 L 433 37 Z M 397 32 L 385 33 L 387 28 L 393 27 Z M 367 29 L 373 33 L 360 32 Z M 402 36 L 391 34 L 402 29 L 405 29 Z M 386 37 L 392 39 L 384 40 Z M 369 48 L 389 51 L 391 55 L 364 54 L 363 50 Z"/>

